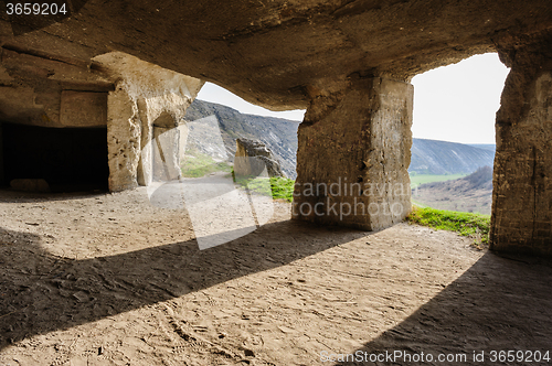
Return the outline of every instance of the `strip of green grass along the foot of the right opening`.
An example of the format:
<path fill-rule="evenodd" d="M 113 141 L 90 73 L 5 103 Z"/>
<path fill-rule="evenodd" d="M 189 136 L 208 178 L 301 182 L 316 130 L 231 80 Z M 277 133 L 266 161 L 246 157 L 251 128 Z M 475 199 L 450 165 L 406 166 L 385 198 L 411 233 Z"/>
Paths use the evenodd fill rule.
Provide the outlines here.
<path fill-rule="evenodd" d="M 459 235 L 473 237 L 475 239 L 474 244 L 478 248 L 480 248 L 480 244 L 489 243 L 489 215 L 413 206 L 412 213 L 406 217 L 406 220 L 438 230 L 456 232 Z"/>

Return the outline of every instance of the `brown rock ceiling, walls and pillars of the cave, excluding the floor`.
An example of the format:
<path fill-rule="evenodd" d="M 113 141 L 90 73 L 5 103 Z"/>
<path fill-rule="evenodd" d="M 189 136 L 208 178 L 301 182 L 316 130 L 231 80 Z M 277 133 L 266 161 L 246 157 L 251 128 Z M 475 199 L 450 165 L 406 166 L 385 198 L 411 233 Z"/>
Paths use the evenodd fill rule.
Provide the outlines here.
<path fill-rule="evenodd" d="M 365 229 L 392 225 L 408 212 L 407 195 L 384 189 L 408 185 L 408 80 L 498 51 L 512 72 L 497 115 L 492 246 L 552 252 L 550 0 L 67 4 L 64 17 L 1 13 L 0 119 L 60 128 L 107 120 L 109 182 L 123 190 L 150 182 L 156 158 L 138 150 L 159 134 L 161 114 L 178 122 L 200 79 L 270 109 L 307 108 L 298 183 L 347 177 L 379 186 L 378 196 L 362 198 L 364 206 L 404 209 L 383 216 L 373 208 L 343 219 L 296 206 L 294 217 Z M 190 93 L 174 87 L 181 83 Z M 173 166 L 172 158 L 159 159 Z M 312 209 L 351 204 L 344 193 L 296 194 L 297 204 Z"/>

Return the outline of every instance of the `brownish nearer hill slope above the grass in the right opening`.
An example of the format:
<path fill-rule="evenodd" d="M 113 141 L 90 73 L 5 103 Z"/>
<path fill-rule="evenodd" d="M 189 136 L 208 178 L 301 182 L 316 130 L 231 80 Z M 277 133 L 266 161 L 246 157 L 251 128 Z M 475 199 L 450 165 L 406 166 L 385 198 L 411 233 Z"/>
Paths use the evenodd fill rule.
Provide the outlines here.
<path fill-rule="evenodd" d="M 421 184 L 412 190 L 412 200 L 439 209 L 490 215 L 492 169 L 482 166 L 458 180 Z"/>

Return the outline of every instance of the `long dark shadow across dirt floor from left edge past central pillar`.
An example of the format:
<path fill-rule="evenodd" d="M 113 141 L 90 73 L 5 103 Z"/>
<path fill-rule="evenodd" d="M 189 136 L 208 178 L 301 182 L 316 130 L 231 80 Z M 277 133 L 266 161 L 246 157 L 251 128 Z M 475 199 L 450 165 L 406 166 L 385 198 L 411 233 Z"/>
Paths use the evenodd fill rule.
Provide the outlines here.
<path fill-rule="evenodd" d="M 40 237 L 0 227 L 0 349 L 34 334 L 284 266 L 367 235 L 287 220 L 208 250 L 189 240 L 72 260 L 44 250 Z"/>

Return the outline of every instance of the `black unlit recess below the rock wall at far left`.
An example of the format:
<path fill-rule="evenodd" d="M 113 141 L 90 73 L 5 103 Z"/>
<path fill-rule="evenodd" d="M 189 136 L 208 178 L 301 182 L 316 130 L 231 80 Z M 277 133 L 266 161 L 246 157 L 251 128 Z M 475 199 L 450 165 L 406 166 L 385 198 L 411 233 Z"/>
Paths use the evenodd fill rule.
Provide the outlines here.
<path fill-rule="evenodd" d="M 52 192 L 108 189 L 107 128 L 0 126 L 1 185 L 44 179 Z"/>

